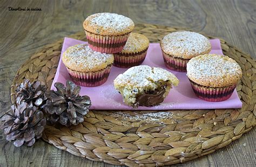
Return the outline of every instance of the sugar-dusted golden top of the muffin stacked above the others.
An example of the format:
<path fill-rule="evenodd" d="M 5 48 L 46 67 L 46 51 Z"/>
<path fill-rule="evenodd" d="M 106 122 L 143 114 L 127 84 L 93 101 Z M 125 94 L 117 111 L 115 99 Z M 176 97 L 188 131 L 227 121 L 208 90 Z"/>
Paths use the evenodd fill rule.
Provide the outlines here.
<path fill-rule="evenodd" d="M 103 36 L 119 36 L 134 28 L 132 19 L 116 13 L 95 13 L 84 20 L 86 31 Z"/>

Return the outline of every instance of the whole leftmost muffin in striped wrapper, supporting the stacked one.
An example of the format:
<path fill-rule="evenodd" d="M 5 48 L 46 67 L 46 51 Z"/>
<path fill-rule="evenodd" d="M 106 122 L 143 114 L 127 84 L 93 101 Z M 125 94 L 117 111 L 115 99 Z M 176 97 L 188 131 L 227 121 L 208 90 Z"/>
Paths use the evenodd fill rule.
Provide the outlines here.
<path fill-rule="evenodd" d="M 73 82 L 80 86 L 95 87 L 106 82 L 114 56 L 93 51 L 87 44 L 78 44 L 63 53 L 62 61 Z"/>

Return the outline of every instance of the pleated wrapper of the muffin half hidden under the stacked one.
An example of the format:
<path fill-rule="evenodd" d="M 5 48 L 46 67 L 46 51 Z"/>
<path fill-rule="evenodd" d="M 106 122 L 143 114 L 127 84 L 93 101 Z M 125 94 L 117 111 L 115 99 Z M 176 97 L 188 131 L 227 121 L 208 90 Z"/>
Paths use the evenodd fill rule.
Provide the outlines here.
<path fill-rule="evenodd" d="M 147 49 L 138 53 L 116 53 L 114 54 L 114 66 L 130 68 L 142 64 L 145 60 Z"/>

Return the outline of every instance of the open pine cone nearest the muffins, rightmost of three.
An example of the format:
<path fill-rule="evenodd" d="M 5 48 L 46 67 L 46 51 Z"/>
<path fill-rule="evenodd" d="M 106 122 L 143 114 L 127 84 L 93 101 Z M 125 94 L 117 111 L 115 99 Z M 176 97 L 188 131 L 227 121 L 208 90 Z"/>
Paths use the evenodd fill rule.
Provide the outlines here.
<path fill-rule="evenodd" d="M 57 91 L 48 91 L 48 99 L 44 110 L 49 114 L 51 123 L 59 121 L 64 126 L 77 125 L 84 121 L 84 115 L 89 112 L 91 100 L 89 96 L 80 96 L 80 86 L 72 81 L 66 81 L 66 88 L 62 83 L 56 82 Z"/>

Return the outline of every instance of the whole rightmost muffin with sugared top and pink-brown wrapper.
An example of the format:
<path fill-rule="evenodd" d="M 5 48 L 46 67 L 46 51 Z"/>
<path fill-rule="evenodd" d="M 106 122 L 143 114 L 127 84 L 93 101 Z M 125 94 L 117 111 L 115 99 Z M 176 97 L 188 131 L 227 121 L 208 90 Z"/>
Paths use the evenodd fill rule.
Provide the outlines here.
<path fill-rule="evenodd" d="M 199 55 L 187 63 L 187 77 L 193 91 L 206 101 L 230 98 L 241 76 L 241 67 L 226 55 Z"/>

